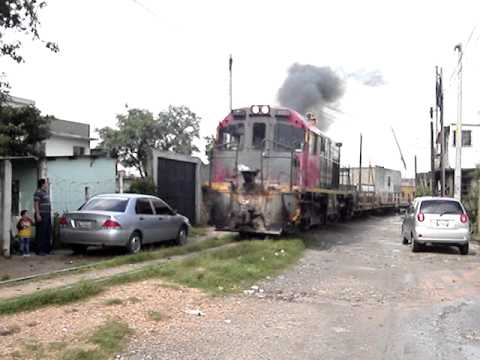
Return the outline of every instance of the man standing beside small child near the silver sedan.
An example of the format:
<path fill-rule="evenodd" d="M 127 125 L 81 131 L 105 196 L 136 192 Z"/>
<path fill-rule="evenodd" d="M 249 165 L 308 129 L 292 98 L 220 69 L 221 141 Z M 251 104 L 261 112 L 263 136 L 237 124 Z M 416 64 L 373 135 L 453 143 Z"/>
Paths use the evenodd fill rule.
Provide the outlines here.
<path fill-rule="evenodd" d="M 33 195 L 35 205 L 35 242 L 37 243 L 37 253 L 44 256 L 50 253 L 50 239 L 52 237 L 52 217 L 50 196 L 48 194 L 48 182 L 46 179 L 38 180 L 38 189 Z"/>

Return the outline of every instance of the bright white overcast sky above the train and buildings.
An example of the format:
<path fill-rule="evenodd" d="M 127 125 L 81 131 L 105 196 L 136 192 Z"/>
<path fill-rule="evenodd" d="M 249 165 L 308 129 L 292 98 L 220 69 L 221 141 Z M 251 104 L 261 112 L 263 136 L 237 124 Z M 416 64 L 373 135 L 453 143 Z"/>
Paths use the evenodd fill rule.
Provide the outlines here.
<path fill-rule="evenodd" d="M 435 65 L 444 67 L 447 123 L 456 121 L 457 54 L 467 43 L 464 122 L 479 123 L 480 6 L 475 1 L 154 1 L 47 0 L 41 35 L 54 54 L 26 43 L 26 63 L 1 59 L 11 93 L 45 114 L 114 126 L 125 105 L 154 113 L 186 105 L 202 136 L 228 113 L 228 56 L 234 107 L 276 104 L 292 63 L 339 73 L 378 71 L 385 84 L 349 79 L 330 135 L 344 143 L 343 165 L 402 169 L 390 126 L 413 175 L 429 167 L 428 109 Z"/>

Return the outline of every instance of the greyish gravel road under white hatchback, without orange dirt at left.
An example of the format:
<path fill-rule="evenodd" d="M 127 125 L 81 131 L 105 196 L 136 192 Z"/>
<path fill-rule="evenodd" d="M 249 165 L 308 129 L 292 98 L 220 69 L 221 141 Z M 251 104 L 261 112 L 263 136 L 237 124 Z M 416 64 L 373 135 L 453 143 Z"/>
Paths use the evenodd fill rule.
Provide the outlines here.
<path fill-rule="evenodd" d="M 305 257 L 219 311 L 130 345 L 130 359 L 480 359 L 480 249 L 412 253 L 400 217 L 311 235 Z"/>

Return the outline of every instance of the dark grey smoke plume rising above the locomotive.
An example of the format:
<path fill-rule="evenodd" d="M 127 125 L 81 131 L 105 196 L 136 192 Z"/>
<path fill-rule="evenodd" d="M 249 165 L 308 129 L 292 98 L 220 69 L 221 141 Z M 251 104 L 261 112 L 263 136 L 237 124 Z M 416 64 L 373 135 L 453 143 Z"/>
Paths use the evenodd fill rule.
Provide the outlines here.
<path fill-rule="evenodd" d="M 302 65 L 295 63 L 288 70 L 288 76 L 278 90 L 278 101 L 300 114 L 313 112 L 317 126 L 326 130 L 332 120 L 325 113 L 326 108 L 335 108 L 345 90 L 344 80 L 330 67 Z"/>

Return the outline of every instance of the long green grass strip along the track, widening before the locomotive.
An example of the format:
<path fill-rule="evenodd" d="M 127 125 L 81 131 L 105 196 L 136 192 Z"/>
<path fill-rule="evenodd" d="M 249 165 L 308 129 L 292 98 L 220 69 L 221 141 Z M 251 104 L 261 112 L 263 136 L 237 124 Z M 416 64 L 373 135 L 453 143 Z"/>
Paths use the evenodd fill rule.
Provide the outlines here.
<path fill-rule="evenodd" d="M 186 249 L 188 245 L 176 249 L 183 249 L 186 254 L 192 252 L 192 249 L 203 250 L 204 246 L 220 246 L 219 244 L 224 244 L 225 241 L 227 239 L 213 238 L 191 244 L 189 249 Z M 115 275 L 99 282 L 79 283 L 67 288 L 42 290 L 0 300 L 0 315 L 31 311 L 49 305 L 64 305 L 95 296 L 111 286 L 152 278 L 166 279 L 168 282 L 203 289 L 212 294 L 235 292 L 295 263 L 304 249 L 301 239 L 240 242 L 235 246 L 172 261 L 162 266 L 146 266 L 138 271 Z"/>

